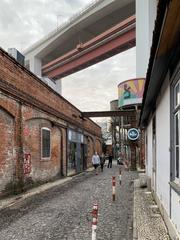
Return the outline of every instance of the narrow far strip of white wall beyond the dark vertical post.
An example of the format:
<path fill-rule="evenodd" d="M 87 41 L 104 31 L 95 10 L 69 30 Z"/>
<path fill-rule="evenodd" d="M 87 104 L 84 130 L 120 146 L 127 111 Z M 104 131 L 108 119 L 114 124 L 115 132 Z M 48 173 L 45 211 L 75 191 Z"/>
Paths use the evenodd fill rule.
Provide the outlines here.
<path fill-rule="evenodd" d="M 146 146 L 146 174 L 148 177 L 152 177 L 152 121 L 150 121 L 147 130 L 147 146 Z"/>

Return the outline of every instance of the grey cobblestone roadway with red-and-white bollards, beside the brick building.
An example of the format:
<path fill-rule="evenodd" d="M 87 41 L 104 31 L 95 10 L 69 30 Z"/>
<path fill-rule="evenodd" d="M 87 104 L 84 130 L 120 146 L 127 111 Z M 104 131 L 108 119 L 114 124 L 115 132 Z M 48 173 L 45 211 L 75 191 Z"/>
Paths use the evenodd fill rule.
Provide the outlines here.
<path fill-rule="evenodd" d="M 88 240 L 91 211 L 99 204 L 98 240 L 131 240 L 134 172 L 122 172 L 112 202 L 112 176 L 119 167 L 86 172 L 0 211 L 0 240 Z"/>

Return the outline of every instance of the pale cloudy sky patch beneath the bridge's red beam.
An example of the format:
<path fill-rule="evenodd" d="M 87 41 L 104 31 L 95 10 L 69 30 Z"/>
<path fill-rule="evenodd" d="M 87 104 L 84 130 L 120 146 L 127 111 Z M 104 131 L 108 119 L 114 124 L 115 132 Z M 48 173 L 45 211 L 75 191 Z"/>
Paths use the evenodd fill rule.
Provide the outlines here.
<path fill-rule="evenodd" d="M 62 94 L 82 111 L 108 111 L 118 84 L 135 78 L 135 48 L 62 79 Z"/>

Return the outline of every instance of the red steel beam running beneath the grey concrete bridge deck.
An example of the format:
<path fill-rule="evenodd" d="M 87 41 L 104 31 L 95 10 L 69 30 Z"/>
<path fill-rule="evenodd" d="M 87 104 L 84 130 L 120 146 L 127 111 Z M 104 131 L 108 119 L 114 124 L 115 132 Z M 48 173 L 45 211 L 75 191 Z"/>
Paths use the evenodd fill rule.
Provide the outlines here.
<path fill-rule="evenodd" d="M 43 75 L 62 78 L 135 46 L 135 16 L 43 66 Z"/>

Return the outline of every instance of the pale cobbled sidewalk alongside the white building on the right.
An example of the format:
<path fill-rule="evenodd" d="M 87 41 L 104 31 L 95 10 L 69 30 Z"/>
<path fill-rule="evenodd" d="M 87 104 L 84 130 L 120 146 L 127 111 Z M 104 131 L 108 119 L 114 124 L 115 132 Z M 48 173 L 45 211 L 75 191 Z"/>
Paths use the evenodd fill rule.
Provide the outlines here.
<path fill-rule="evenodd" d="M 151 192 L 134 182 L 134 240 L 170 240 L 166 226 Z"/>

